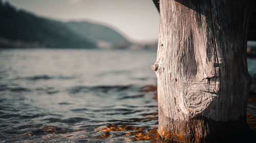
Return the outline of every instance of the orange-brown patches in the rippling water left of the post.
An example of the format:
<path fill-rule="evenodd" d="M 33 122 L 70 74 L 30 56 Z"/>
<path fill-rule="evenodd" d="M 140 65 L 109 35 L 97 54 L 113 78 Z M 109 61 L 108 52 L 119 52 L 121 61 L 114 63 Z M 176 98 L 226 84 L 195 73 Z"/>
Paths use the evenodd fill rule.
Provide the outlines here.
<path fill-rule="evenodd" d="M 157 87 L 156 85 L 147 85 L 141 89 L 142 92 L 155 92 L 153 98 L 157 100 Z M 153 142 L 164 141 L 161 139 L 157 132 L 157 128 L 148 127 L 136 127 L 133 123 L 136 122 L 149 122 L 152 120 L 158 120 L 158 112 L 154 113 L 144 113 L 142 116 L 145 118 L 134 119 L 134 121 L 125 121 L 125 123 L 120 122 L 117 124 L 108 124 L 107 126 L 102 126 L 96 130 L 100 133 L 96 138 L 106 139 L 114 136 L 120 136 L 118 140 L 123 141 L 143 141 L 149 140 Z M 129 123 L 130 122 L 130 123 Z"/>

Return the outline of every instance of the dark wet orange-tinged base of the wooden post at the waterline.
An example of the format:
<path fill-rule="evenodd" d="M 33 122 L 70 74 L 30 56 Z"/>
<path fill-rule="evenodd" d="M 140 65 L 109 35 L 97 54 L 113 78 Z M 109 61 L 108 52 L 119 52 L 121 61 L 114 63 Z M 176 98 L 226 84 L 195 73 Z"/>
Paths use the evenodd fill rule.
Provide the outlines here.
<path fill-rule="evenodd" d="M 188 121 L 161 117 L 158 133 L 162 138 L 184 142 L 215 142 L 250 132 L 246 117 L 236 121 L 219 122 L 203 117 Z M 165 123 L 168 121 L 168 123 Z M 166 126 L 167 125 L 167 126 Z M 236 132 L 237 131 L 237 132 Z"/>

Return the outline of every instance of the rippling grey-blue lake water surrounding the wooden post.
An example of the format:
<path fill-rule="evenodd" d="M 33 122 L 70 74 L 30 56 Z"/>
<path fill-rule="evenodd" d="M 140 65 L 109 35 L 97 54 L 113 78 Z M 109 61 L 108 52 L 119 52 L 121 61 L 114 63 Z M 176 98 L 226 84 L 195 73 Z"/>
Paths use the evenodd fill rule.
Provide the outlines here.
<path fill-rule="evenodd" d="M 148 50 L 1 50 L 0 141 L 161 141 L 155 60 Z"/>

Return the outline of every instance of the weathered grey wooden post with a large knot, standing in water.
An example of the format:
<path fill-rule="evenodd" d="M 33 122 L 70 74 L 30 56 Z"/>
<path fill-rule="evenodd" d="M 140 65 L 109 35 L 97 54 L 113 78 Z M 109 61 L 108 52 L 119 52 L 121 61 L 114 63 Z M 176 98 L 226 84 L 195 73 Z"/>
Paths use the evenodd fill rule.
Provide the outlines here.
<path fill-rule="evenodd" d="M 250 11 L 247 0 L 160 0 L 161 137 L 204 142 L 244 129 Z"/>

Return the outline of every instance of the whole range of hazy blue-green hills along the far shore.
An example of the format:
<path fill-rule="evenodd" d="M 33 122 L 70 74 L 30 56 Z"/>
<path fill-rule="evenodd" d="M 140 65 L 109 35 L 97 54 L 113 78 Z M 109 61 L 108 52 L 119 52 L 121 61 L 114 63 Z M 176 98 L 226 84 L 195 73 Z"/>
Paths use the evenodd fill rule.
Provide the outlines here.
<path fill-rule="evenodd" d="M 108 26 L 43 18 L 1 1 L 0 19 L 0 48 L 157 48 L 157 43 L 132 43 Z"/>

